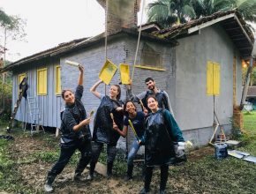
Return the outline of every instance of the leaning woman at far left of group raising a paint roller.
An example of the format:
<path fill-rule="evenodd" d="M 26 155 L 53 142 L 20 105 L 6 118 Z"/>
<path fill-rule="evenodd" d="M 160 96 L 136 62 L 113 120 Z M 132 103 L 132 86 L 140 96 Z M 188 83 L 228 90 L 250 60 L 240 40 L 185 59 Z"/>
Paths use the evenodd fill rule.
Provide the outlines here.
<path fill-rule="evenodd" d="M 59 175 L 75 153 L 79 149 L 81 153 L 79 164 L 75 170 L 74 180 L 81 180 L 81 173 L 91 160 L 91 132 L 89 129 L 90 118 L 87 118 L 86 109 L 81 101 L 83 95 L 83 74 L 84 68 L 79 66 L 79 86 L 76 92 L 71 90 L 62 91 L 65 102 L 64 112 L 61 114 L 61 152 L 56 164 L 51 168 L 47 175 L 44 185 L 46 191 L 52 191 L 52 183 L 56 175 Z"/>

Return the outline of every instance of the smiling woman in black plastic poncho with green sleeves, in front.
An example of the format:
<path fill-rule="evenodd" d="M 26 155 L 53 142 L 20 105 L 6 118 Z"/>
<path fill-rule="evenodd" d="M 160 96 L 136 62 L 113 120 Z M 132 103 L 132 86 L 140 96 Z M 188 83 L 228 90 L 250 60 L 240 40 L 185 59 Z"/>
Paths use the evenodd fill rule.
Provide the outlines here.
<path fill-rule="evenodd" d="M 147 106 L 152 113 L 145 122 L 145 134 L 141 139 L 145 143 L 145 180 L 144 188 L 139 193 L 147 193 L 150 189 L 153 168 L 161 168 L 160 193 L 165 193 L 169 165 L 176 162 L 174 141 L 184 142 L 182 132 L 169 110 L 158 108 L 154 96 L 147 98 Z"/>

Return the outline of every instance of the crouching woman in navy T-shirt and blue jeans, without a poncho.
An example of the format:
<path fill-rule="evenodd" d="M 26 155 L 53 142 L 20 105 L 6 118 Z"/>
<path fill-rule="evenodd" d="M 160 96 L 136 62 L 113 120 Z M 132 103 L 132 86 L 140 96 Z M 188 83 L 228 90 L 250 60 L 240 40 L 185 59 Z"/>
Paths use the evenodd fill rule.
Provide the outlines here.
<path fill-rule="evenodd" d="M 145 130 L 144 130 L 144 113 L 141 111 L 136 111 L 136 107 L 132 101 L 126 101 L 124 104 L 124 111 L 126 113 L 126 116 L 124 118 L 124 128 L 123 131 L 121 131 L 117 124 L 114 123 L 113 128 L 116 130 L 121 136 L 124 138 L 127 135 L 128 131 L 128 125 L 129 125 L 129 120 L 131 120 L 132 125 L 134 127 L 134 130 L 136 132 L 135 139 L 132 143 L 132 149 L 130 150 L 128 154 L 128 159 L 127 159 L 127 175 L 125 177 L 125 180 L 128 181 L 132 179 L 132 170 L 133 170 L 133 160 L 135 158 L 136 153 L 139 150 L 139 143 L 138 140 L 139 138 L 142 138 Z"/>

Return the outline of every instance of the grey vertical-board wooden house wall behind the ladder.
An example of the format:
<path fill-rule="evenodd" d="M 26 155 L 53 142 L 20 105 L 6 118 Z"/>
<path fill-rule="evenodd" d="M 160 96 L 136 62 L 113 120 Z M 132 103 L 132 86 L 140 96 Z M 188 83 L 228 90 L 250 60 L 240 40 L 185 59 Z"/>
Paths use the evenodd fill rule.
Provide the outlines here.
<path fill-rule="evenodd" d="M 13 71 L 13 87 L 12 87 L 12 107 L 16 103 L 19 95 L 19 74 L 26 73 L 28 78 L 28 95 L 35 97 L 40 111 L 40 124 L 49 127 L 60 127 L 59 110 L 61 109 L 61 96 L 56 95 L 56 64 L 57 61 L 37 61 L 28 63 L 22 68 L 16 68 Z M 48 77 L 48 93 L 47 95 L 37 95 L 37 70 L 47 68 Z M 28 110 L 28 102 L 22 98 L 20 107 L 15 117 L 18 121 L 32 123 Z"/>

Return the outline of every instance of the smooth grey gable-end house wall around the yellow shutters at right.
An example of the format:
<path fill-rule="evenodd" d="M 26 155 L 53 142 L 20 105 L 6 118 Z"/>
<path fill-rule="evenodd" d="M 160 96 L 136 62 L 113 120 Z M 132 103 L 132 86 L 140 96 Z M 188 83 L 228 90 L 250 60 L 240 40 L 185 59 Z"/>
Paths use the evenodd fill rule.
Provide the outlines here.
<path fill-rule="evenodd" d="M 214 40 L 214 41 L 213 41 Z M 177 123 L 184 135 L 199 145 L 213 134 L 214 108 L 219 122 L 230 129 L 233 116 L 233 57 L 237 55 L 237 101 L 241 98 L 241 60 L 221 26 L 209 26 L 200 34 L 179 39 L 177 46 Z M 207 95 L 207 61 L 221 66 L 220 95 Z M 196 130 L 196 131 L 192 131 Z"/>

